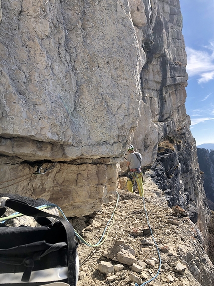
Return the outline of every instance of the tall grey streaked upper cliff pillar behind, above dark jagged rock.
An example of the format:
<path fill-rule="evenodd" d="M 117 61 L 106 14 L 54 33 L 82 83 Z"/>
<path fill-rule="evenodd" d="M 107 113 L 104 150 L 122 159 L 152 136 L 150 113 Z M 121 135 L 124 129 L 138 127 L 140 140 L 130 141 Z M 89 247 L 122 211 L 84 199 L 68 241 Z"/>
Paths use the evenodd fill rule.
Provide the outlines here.
<path fill-rule="evenodd" d="M 141 62 L 146 54 L 140 73 L 146 110 L 142 112 L 134 134 L 134 145 L 144 154 L 143 165 L 146 166 L 156 158 L 160 139 L 180 126 L 189 128 L 190 120 L 184 105 L 186 52 L 179 1 L 149 0 L 144 3 L 146 25 L 135 26 L 135 30 L 142 46 Z M 137 9 L 136 5 L 135 11 Z"/>

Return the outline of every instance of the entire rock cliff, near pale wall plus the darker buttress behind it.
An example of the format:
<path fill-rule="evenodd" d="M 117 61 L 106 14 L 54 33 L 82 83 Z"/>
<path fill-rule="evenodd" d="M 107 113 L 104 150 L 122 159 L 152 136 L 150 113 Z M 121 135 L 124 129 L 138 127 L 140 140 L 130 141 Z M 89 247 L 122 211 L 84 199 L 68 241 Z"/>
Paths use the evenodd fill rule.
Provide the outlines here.
<path fill-rule="evenodd" d="M 132 142 L 206 241 L 179 0 L 0 3 L 1 193 L 90 214 L 115 193 Z"/>

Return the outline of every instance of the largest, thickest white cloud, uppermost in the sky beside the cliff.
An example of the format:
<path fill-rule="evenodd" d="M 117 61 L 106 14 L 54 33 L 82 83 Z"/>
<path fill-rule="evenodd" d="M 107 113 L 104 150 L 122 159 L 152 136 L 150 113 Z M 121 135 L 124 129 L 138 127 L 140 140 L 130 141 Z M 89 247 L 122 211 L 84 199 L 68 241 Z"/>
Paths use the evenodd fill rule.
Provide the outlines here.
<path fill-rule="evenodd" d="M 205 47 L 210 50 L 194 50 L 187 47 L 187 73 L 189 77 L 199 76 L 198 83 L 205 83 L 214 79 L 214 44 Z"/>

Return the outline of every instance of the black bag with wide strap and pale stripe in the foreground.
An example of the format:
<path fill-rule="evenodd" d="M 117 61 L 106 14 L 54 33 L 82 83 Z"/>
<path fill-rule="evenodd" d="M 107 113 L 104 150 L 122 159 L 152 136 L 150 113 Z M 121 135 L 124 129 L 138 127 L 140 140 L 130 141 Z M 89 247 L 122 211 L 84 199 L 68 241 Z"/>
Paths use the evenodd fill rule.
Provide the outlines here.
<path fill-rule="evenodd" d="M 76 286 L 79 258 L 73 226 L 18 200 L 6 198 L 5 206 L 34 217 L 41 226 L 0 223 L 0 286 Z M 1 216 L 5 209 L 0 208 Z"/>

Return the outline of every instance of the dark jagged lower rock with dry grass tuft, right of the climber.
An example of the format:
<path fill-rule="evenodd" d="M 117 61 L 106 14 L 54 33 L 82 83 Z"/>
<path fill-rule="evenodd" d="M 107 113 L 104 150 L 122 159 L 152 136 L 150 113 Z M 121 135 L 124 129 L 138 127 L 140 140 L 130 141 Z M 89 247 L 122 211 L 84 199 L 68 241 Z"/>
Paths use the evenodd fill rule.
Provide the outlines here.
<path fill-rule="evenodd" d="M 210 209 L 203 188 L 195 140 L 189 129 L 178 128 L 158 144 L 158 153 L 147 176 L 158 185 L 168 206 L 179 205 L 203 234 L 201 242 L 208 251 Z"/>

